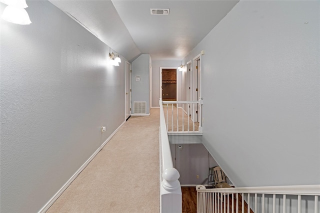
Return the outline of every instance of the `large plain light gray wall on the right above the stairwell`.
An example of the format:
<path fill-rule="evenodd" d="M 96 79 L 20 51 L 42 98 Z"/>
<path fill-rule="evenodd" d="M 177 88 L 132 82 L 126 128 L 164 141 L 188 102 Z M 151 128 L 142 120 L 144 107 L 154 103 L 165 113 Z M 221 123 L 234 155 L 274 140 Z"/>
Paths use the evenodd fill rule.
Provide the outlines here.
<path fill-rule="evenodd" d="M 205 50 L 202 142 L 237 187 L 320 184 L 319 3 L 240 1 L 184 58 Z"/>

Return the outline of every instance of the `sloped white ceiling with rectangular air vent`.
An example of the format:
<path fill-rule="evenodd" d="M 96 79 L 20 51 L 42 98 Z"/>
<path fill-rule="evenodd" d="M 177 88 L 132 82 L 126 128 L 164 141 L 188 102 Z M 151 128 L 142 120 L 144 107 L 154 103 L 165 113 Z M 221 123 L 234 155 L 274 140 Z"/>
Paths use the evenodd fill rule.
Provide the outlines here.
<path fill-rule="evenodd" d="M 49 0 L 132 62 L 181 60 L 238 0 Z M 151 15 L 150 8 L 169 8 Z"/>

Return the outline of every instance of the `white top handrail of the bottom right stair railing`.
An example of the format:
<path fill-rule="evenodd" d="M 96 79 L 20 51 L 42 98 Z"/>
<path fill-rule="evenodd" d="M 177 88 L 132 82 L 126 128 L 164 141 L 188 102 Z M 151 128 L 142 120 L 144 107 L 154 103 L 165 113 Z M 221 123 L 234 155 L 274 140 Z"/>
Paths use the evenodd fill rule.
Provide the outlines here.
<path fill-rule="evenodd" d="M 212 193 L 250 193 L 250 194 L 274 194 L 274 195 L 310 195 L 320 196 L 320 185 L 297 185 L 297 186 L 269 186 L 269 187 L 239 187 L 205 189 L 202 185 L 196 186 L 197 192 Z"/>

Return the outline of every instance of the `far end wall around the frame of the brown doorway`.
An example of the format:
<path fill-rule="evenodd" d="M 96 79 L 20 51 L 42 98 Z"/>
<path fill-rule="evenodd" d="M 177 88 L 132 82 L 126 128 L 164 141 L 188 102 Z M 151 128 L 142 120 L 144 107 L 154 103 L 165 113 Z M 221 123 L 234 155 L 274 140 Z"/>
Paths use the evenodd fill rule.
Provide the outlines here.
<path fill-rule="evenodd" d="M 159 107 L 160 67 L 178 67 L 181 61 L 152 60 L 152 102 L 151 107 Z M 178 78 L 179 76 L 177 76 Z M 179 80 L 179 79 L 178 79 Z"/>

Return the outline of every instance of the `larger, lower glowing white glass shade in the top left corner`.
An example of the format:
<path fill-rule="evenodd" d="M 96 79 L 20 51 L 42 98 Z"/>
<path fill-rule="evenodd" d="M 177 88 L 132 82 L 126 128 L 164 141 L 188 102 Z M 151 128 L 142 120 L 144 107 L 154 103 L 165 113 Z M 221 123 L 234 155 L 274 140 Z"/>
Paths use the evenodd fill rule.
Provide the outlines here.
<path fill-rule="evenodd" d="M 31 23 L 29 15 L 24 8 L 18 8 L 12 5 L 7 5 L 4 8 L 1 18 L 6 21 L 17 23 L 17 24 Z"/>

